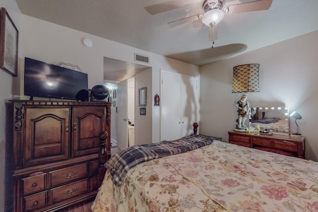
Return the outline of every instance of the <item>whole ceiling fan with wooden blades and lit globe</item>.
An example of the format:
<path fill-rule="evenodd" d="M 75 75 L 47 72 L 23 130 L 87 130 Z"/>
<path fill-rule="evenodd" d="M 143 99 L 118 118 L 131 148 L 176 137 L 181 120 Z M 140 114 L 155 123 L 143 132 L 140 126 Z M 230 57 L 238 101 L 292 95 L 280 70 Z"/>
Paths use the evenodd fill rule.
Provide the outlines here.
<path fill-rule="evenodd" d="M 223 9 L 224 1 L 225 0 L 205 0 L 203 2 L 204 14 L 196 14 L 181 18 L 179 20 L 171 21 L 168 23 L 168 27 L 172 28 L 181 24 L 201 19 L 202 23 L 209 26 L 209 40 L 214 41 L 217 39 L 216 25 L 223 19 L 224 14 L 266 10 L 271 6 L 273 0 L 255 0 L 246 3 L 229 5 Z M 156 14 L 159 12 L 182 7 L 189 3 L 189 0 L 172 0 L 145 8 L 151 14 Z"/>

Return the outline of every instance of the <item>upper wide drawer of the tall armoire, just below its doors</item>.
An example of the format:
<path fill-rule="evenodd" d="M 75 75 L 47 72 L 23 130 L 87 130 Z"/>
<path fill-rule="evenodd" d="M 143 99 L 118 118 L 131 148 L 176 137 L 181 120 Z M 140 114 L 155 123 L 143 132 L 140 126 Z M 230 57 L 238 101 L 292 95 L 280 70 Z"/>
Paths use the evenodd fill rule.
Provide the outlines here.
<path fill-rule="evenodd" d="M 87 163 L 49 172 L 51 187 L 87 176 Z"/>

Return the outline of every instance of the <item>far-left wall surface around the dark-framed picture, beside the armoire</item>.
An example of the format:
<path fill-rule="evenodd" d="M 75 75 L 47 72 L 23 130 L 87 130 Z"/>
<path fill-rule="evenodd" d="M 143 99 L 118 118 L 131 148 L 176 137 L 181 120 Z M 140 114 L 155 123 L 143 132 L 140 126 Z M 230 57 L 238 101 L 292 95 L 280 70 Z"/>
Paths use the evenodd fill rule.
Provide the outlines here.
<path fill-rule="evenodd" d="M 15 1 L 0 0 L 0 6 L 4 7 L 10 15 L 18 31 L 21 28 L 21 13 Z M 20 48 L 20 47 L 19 47 Z M 19 49 L 18 48 L 18 49 Z M 20 51 L 19 51 L 20 60 Z M 12 108 L 5 101 L 9 99 L 15 90 L 19 90 L 19 84 L 15 84 L 17 77 L 0 69 L 0 212 L 12 211 Z M 9 113 L 7 116 L 6 112 Z M 12 115 L 11 115 L 12 114 Z M 11 116 L 10 116 L 11 115 Z"/>

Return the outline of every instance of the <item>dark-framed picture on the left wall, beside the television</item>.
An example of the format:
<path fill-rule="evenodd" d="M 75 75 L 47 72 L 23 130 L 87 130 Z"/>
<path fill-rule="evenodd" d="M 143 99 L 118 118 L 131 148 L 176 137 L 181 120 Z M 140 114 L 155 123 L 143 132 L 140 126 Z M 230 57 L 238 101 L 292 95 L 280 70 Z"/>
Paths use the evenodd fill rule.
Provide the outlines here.
<path fill-rule="evenodd" d="M 0 10 L 0 68 L 12 76 L 18 73 L 19 31 L 4 7 Z"/>

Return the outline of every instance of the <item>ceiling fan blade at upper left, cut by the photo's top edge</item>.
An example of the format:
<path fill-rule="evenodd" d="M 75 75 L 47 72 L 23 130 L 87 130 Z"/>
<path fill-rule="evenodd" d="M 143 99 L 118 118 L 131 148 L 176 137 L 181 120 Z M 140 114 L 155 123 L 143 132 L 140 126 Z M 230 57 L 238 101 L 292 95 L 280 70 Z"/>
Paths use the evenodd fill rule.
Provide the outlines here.
<path fill-rule="evenodd" d="M 158 3 L 150 6 L 145 6 L 145 9 L 152 15 L 160 13 L 160 12 L 166 12 L 172 9 L 176 9 L 182 6 L 185 6 L 187 4 L 194 4 L 196 2 L 193 2 L 193 0 L 170 0 L 163 3 Z"/>

